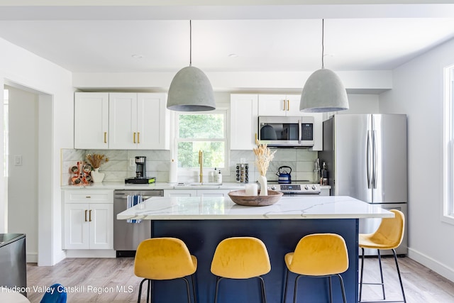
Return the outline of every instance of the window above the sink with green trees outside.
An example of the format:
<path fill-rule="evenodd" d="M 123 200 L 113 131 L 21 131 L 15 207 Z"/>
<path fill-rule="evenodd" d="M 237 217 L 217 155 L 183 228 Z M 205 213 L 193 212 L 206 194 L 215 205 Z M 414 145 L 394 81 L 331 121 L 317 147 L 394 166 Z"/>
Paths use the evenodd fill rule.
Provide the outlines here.
<path fill-rule="evenodd" d="M 176 148 L 180 168 L 199 167 L 199 150 L 203 151 L 203 165 L 206 169 L 228 167 L 226 110 L 205 113 L 176 114 Z"/>

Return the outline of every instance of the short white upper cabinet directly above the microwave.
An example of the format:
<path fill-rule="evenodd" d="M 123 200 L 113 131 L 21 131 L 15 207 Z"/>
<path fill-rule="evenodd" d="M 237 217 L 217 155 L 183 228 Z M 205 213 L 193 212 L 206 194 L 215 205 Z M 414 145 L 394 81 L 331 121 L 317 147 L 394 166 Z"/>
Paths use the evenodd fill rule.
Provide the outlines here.
<path fill-rule="evenodd" d="M 259 116 L 303 116 L 299 111 L 300 95 L 259 94 Z"/>

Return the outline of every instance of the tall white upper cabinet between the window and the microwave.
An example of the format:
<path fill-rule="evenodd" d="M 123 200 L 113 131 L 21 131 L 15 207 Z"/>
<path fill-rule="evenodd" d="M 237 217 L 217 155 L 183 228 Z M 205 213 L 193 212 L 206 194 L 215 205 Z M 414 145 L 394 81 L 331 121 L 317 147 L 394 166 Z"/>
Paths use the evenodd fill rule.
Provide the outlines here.
<path fill-rule="evenodd" d="M 252 150 L 258 132 L 258 95 L 231 94 L 230 148 Z"/>

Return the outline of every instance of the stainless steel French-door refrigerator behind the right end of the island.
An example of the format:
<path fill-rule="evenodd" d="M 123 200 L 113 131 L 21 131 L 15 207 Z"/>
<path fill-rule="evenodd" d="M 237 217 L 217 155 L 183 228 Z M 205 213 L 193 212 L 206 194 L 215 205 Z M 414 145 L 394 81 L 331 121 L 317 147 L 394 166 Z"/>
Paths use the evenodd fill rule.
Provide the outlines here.
<path fill-rule="evenodd" d="M 399 209 L 407 218 L 406 155 L 406 115 L 336 114 L 323 121 L 319 158 L 328 167 L 331 195 Z M 380 219 L 360 219 L 360 233 L 372 233 L 379 225 Z M 397 254 L 407 253 L 406 226 Z"/>

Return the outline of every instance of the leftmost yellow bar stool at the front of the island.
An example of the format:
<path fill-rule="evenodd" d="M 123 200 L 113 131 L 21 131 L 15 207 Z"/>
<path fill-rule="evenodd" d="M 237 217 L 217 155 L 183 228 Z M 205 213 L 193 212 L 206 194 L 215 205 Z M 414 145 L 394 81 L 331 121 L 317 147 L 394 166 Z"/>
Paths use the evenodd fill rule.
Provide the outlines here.
<path fill-rule="evenodd" d="M 148 281 L 148 303 L 150 290 L 153 302 L 153 280 L 182 279 L 186 282 L 187 302 L 191 303 L 189 281 L 186 278 L 189 275 L 192 278 L 194 302 L 197 302 L 194 279 L 196 269 L 197 258 L 189 253 L 186 244 L 178 238 L 150 238 L 140 242 L 135 253 L 134 274 L 144 279 L 140 282 L 137 302 L 140 303 L 143 282 Z"/>

